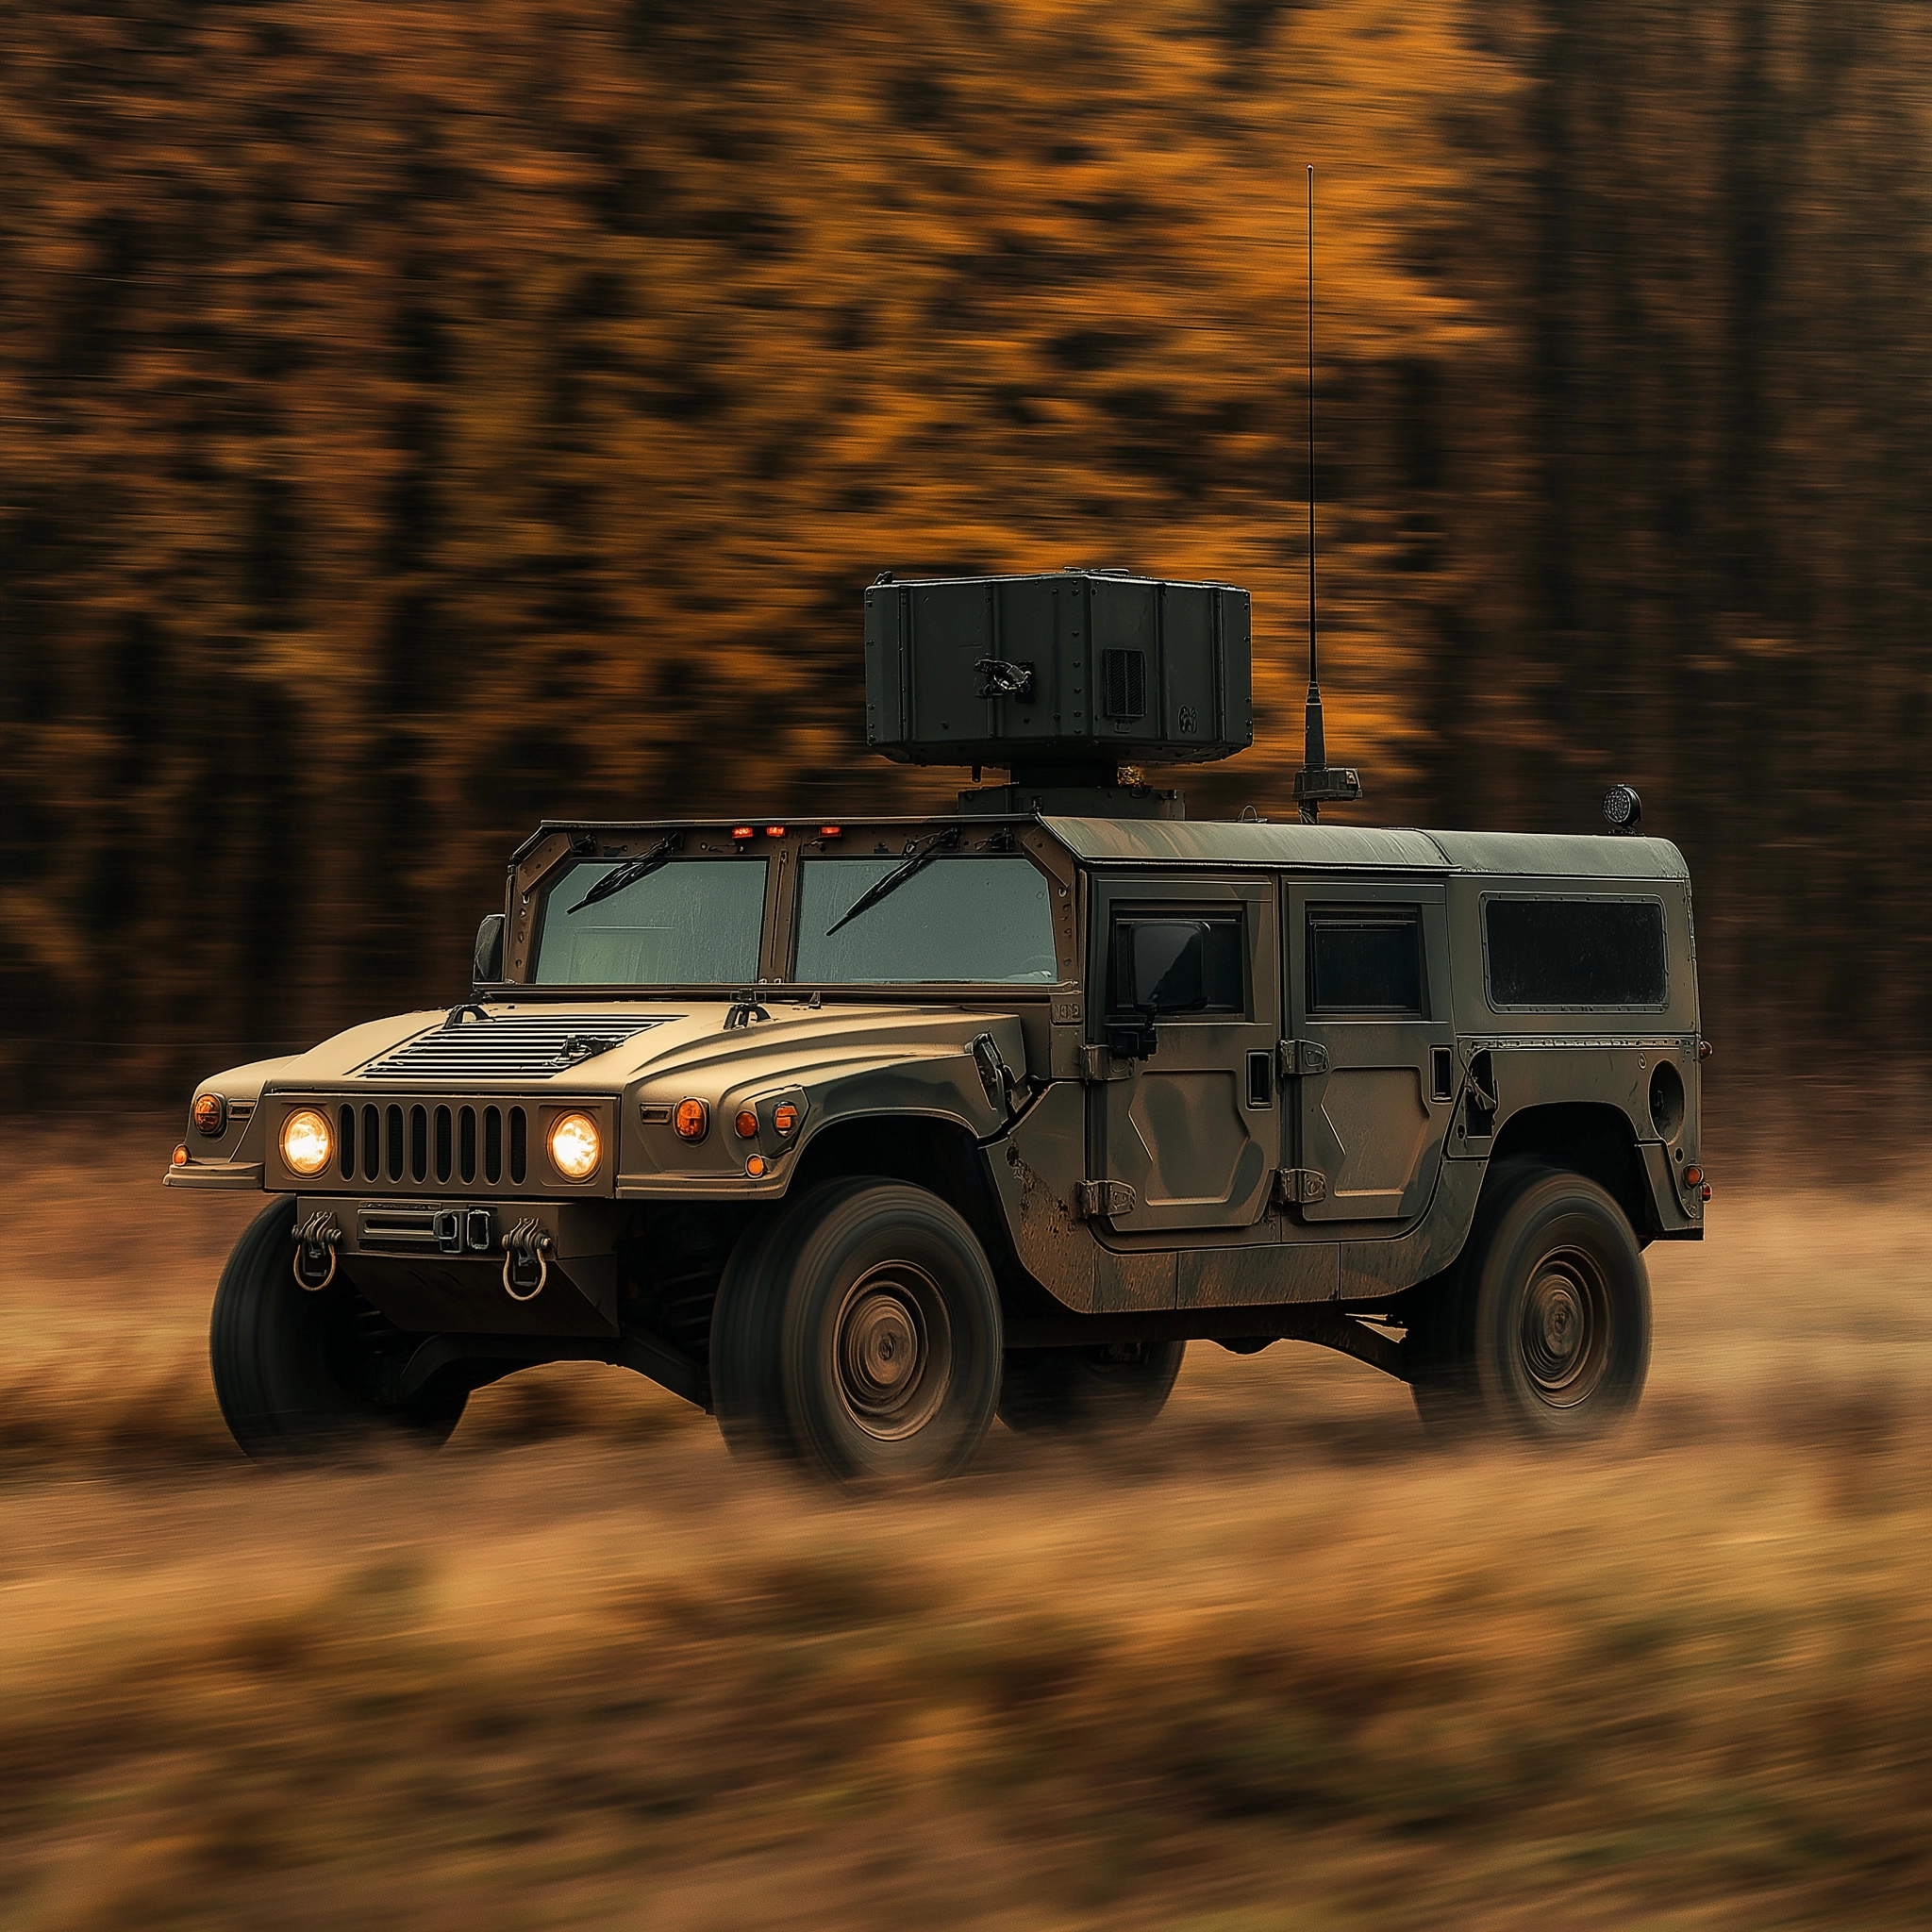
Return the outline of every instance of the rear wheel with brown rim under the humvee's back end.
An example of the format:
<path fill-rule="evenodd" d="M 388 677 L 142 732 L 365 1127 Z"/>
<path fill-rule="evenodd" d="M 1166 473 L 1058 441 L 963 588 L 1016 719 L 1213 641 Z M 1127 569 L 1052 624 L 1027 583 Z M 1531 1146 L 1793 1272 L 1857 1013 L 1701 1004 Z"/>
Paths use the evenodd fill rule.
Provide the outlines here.
<path fill-rule="evenodd" d="M 1455 1281 L 1412 1331 L 1416 1414 L 1430 1434 L 1602 1435 L 1650 1372 L 1650 1279 L 1631 1223 L 1582 1175 L 1524 1163 L 1497 1179 Z"/>

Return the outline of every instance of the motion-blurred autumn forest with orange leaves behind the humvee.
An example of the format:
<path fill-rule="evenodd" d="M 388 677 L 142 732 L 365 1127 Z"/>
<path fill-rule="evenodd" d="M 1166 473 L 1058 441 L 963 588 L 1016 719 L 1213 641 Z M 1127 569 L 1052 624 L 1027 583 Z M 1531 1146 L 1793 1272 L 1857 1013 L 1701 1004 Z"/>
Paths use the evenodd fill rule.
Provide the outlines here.
<path fill-rule="evenodd" d="M 1354 815 L 1629 779 L 1716 1065 L 1922 1055 L 1928 124 L 1922 0 L 10 8 L 6 1070 L 448 999 L 539 815 L 949 798 L 885 566 L 1252 585 L 1287 815 L 1306 162 Z"/>

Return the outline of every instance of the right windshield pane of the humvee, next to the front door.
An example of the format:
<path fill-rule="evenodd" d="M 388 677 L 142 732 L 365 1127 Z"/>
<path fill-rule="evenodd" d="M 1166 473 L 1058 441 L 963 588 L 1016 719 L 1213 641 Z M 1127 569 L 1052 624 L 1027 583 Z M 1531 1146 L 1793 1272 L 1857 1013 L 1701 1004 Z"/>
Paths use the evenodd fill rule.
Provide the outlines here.
<path fill-rule="evenodd" d="M 935 856 L 850 923 L 837 925 L 895 858 L 808 858 L 798 879 L 798 968 L 823 983 L 960 980 L 1053 985 L 1053 904 L 1045 877 L 1020 854 Z"/>

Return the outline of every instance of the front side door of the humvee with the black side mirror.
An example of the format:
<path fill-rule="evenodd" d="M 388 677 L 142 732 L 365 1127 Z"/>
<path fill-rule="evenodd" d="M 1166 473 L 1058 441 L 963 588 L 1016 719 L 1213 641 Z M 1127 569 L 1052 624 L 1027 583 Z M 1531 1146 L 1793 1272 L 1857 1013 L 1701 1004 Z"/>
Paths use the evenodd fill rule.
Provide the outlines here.
<path fill-rule="evenodd" d="M 1273 881 L 1105 879 L 1092 985 L 1109 1078 L 1092 1086 L 1088 1173 L 1121 1233 L 1252 1227 L 1279 1161 Z M 1122 1190 L 1130 1190 L 1128 1194 Z"/>

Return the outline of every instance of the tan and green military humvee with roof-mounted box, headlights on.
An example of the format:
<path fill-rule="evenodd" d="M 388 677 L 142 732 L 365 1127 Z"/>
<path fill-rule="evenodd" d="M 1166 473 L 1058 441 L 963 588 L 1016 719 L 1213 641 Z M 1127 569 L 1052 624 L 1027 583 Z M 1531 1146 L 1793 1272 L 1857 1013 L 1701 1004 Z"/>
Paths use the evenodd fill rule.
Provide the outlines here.
<path fill-rule="evenodd" d="M 203 1084 L 168 1184 L 272 1196 L 214 1296 L 242 1447 L 437 1443 L 599 1360 L 941 1476 L 995 1412 L 1150 1420 L 1190 1341 L 1339 1349 L 1441 1430 L 1623 1416 L 1642 1248 L 1708 1196 L 1685 864 L 1325 825 L 1318 750 L 1300 821 L 1186 819 L 1121 767 L 1248 744 L 1248 653 L 1231 585 L 881 580 L 867 740 L 1010 782 L 545 823 L 468 999 Z"/>

